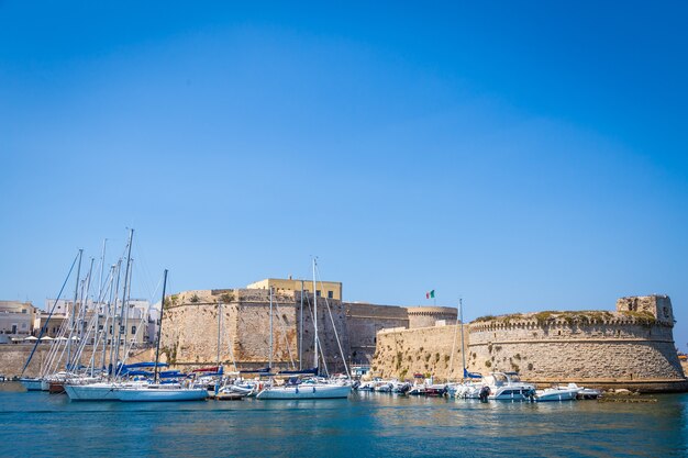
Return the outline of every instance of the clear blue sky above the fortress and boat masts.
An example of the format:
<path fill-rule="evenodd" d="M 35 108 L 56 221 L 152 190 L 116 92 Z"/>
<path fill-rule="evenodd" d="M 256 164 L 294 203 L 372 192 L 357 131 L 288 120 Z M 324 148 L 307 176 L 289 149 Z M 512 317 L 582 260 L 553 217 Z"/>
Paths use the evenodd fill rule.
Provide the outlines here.
<path fill-rule="evenodd" d="M 666 293 L 688 343 L 685 2 L 0 2 L 0 297 L 344 282 L 468 320 Z M 473 2 L 475 3 L 475 2 Z"/>

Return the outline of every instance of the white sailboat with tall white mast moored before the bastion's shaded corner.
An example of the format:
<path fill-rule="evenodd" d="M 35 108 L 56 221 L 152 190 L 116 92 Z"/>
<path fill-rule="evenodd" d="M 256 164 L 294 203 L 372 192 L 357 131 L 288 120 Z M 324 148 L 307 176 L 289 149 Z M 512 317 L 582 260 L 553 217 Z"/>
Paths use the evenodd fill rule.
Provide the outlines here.
<path fill-rule="evenodd" d="M 288 371 L 281 372 L 282 375 L 318 375 L 319 372 L 319 359 L 318 359 L 318 293 L 315 287 L 315 259 L 313 259 L 313 366 L 314 369 L 310 371 Z M 270 356 L 271 358 L 271 356 Z M 307 399 L 345 399 L 352 391 L 352 386 L 347 380 L 329 381 L 320 377 L 309 378 L 301 380 L 298 377 L 291 377 L 281 386 L 268 386 L 265 387 L 257 395 L 256 399 L 262 400 L 307 400 Z"/>

